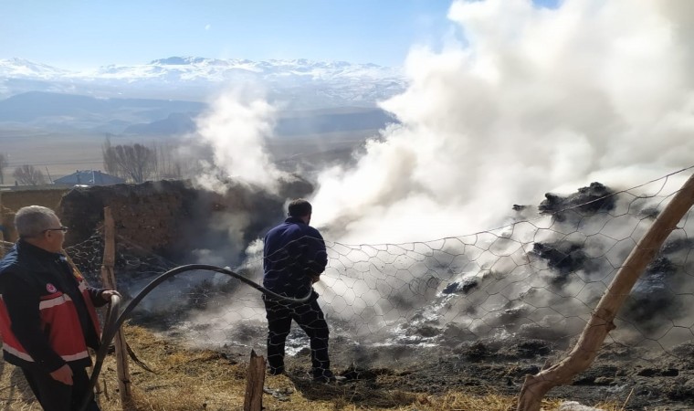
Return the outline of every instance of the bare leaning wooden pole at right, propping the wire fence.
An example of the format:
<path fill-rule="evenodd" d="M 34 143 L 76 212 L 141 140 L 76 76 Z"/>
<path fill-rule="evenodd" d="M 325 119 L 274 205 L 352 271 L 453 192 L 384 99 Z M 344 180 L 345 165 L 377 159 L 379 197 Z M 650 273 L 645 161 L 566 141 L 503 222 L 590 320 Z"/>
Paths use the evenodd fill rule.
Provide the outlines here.
<path fill-rule="evenodd" d="M 571 381 L 574 374 L 586 370 L 593 363 L 607 333 L 615 329 L 615 315 L 648 263 L 656 256 L 670 232 L 694 204 L 694 175 L 682 185 L 670 203 L 657 216 L 646 236 L 636 244 L 624 265 L 615 275 L 603 298 L 598 302 L 593 316 L 585 325 L 573 351 L 559 364 L 528 375 L 520 389 L 518 411 L 539 411 L 542 397 L 555 385 Z"/>

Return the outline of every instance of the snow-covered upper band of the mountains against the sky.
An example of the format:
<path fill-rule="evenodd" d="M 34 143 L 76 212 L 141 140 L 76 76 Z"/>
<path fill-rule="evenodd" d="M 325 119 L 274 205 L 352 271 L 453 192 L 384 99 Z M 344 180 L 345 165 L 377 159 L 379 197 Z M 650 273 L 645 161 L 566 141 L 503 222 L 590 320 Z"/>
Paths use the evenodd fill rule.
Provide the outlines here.
<path fill-rule="evenodd" d="M 307 59 L 171 57 L 85 71 L 20 58 L 0 59 L 0 98 L 50 91 L 100 98 L 204 101 L 212 93 L 239 85 L 264 90 L 269 100 L 298 109 L 373 107 L 376 101 L 405 90 L 405 79 L 399 68 Z"/>

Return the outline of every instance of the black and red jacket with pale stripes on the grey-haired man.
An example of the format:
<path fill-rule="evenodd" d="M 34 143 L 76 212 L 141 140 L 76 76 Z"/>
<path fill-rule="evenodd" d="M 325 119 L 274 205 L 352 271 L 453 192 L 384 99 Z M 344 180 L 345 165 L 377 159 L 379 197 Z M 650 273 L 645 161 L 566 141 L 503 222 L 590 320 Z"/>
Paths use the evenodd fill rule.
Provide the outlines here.
<path fill-rule="evenodd" d="M 62 254 L 19 240 L 0 260 L 0 332 L 9 364 L 51 373 L 64 364 L 89 366 L 99 347 L 96 306 L 103 290 L 87 282 Z"/>

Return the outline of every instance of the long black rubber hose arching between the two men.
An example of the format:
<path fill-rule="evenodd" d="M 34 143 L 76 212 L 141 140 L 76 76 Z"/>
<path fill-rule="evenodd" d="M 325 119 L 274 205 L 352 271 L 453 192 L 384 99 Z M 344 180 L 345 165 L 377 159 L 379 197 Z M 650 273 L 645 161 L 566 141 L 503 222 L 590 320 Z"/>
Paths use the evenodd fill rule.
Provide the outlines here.
<path fill-rule="evenodd" d="M 189 264 L 186 266 L 176 267 L 175 269 L 170 269 L 164 272 L 156 279 L 152 279 L 152 282 L 147 284 L 147 286 L 144 289 L 142 289 L 142 291 L 140 291 L 135 296 L 135 298 L 133 298 L 128 303 L 127 306 L 125 306 L 121 314 L 115 320 L 114 318 L 118 313 L 118 309 L 120 308 L 121 298 L 118 296 L 112 296 L 109 311 L 107 311 L 106 320 L 104 321 L 103 331 L 101 332 L 101 345 L 99 347 L 99 350 L 97 351 L 96 361 L 94 362 L 93 371 L 91 372 L 91 377 L 89 378 L 89 390 L 85 395 L 84 400 L 82 401 L 82 406 L 79 407 L 80 411 L 85 411 L 87 409 L 87 406 L 89 406 L 89 402 L 91 401 L 92 396 L 94 395 L 94 386 L 96 385 L 97 379 L 99 378 L 99 374 L 101 372 L 101 365 L 103 364 L 103 360 L 106 358 L 106 354 L 109 350 L 110 342 L 113 340 L 113 337 L 115 337 L 116 333 L 121 328 L 123 322 L 128 318 L 131 311 L 140 303 L 140 301 L 142 301 L 144 297 L 147 296 L 147 294 L 152 292 L 152 290 L 154 290 L 157 286 L 163 283 L 163 281 L 165 281 L 166 279 L 170 279 L 175 275 L 181 274 L 185 271 L 215 271 L 218 273 L 226 274 L 228 276 L 234 277 L 235 279 L 241 280 L 241 282 L 245 282 L 247 285 L 253 287 L 256 290 L 259 290 L 263 294 L 266 294 L 276 300 L 286 301 L 290 303 L 306 302 L 310 299 L 312 293 L 312 291 L 310 291 L 309 295 L 307 295 L 306 297 L 300 299 L 292 299 L 272 292 L 266 289 L 265 287 L 259 285 L 258 283 L 250 279 L 247 279 L 241 276 L 240 274 L 237 274 L 231 269 L 223 269 L 221 267 L 210 266 L 206 264 Z"/>

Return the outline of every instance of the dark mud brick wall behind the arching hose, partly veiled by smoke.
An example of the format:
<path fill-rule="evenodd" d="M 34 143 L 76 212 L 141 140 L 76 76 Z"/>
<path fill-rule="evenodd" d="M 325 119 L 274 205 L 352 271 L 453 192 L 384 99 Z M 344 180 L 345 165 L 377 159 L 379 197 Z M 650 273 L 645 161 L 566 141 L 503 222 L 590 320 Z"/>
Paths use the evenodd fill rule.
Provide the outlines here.
<path fill-rule="evenodd" d="M 109 206 L 118 238 L 181 261 L 195 248 L 237 253 L 283 218 L 287 198 L 308 195 L 312 188 L 302 181 L 284 184 L 279 195 L 247 184 L 228 184 L 219 194 L 183 181 L 75 188 L 63 196 L 58 216 L 70 227 L 66 246 L 71 246 L 99 232 Z M 231 246 L 230 237 L 237 239 Z"/>

